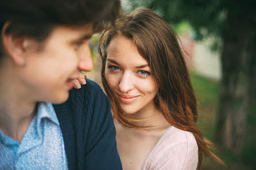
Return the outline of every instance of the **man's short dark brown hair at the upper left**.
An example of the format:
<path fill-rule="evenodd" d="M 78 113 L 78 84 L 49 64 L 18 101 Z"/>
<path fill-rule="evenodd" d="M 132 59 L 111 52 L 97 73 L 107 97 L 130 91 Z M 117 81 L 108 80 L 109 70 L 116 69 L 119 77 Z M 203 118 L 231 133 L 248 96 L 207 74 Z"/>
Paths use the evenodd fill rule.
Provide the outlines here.
<path fill-rule="evenodd" d="M 6 22 L 10 24 L 2 34 L 37 41 L 46 39 L 57 25 L 92 23 L 94 31 L 100 31 L 104 25 L 114 23 L 120 9 L 119 0 L 0 0 L 1 33 Z"/>

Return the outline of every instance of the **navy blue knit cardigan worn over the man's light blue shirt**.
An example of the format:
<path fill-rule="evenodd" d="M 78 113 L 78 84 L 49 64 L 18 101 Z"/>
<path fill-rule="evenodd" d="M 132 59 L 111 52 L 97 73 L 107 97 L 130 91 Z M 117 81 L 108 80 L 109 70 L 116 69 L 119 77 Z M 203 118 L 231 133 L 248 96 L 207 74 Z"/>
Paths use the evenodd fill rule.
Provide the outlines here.
<path fill-rule="evenodd" d="M 53 105 L 63 133 L 68 168 L 122 169 L 110 102 L 98 84 L 86 81 L 82 88 L 70 90 L 66 102 Z"/>

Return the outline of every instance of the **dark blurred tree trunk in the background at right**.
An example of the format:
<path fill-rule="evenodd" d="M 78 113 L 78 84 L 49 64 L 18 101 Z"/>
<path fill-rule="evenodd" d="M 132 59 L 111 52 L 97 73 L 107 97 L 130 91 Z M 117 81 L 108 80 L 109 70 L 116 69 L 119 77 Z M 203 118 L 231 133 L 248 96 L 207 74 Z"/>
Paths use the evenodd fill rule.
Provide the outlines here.
<path fill-rule="evenodd" d="M 255 100 L 256 24 L 252 18 L 250 14 L 228 12 L 223 27 L 222 82 L 215 140 L 235 155 L 243 151 L 247 112 Z"/>

